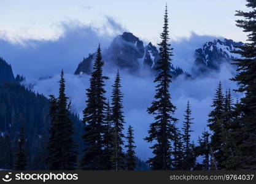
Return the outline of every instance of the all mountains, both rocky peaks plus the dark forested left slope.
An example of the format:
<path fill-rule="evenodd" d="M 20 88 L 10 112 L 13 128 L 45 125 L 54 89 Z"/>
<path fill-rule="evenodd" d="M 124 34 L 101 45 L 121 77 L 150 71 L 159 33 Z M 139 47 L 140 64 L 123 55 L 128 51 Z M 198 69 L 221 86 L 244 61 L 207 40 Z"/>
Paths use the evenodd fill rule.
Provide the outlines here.
<path fill-rule="evenodd" d="M 242 45 L 242 42 L 228 39 L 206 42 L 201 48 L 195 50 L 195 58 L 192 58 L 195 59 L 192 74 L 188 74 L 182 68 L 173 65 L 170 73 L 173 77 L 184 74 L 193 79 L 207 75 L 212 71 L 219 71 L 223 63 L 231 63 L 232 59 L 239 58 L 239 55 L 231 52 L 239 45 Z M 159 58 L 160 55 L 155 45 L 149 42 L 144 46 L 144 43 L 132 33 L 123 33 L 115 37 L 111 45 L 103 50 L 103 59 L 107 69 L 113 71 L 117 68 L 124 69 L 131 74 L 136 74 L 140 69 L 155 74 Z M 75 74 L 90 74 L 94 61 L 95 53 L 83 58 Z M 48 79 L 48 77 L 42 77 L 39 80 L 44 79 Z M 22 80 L 24 77 L 21 75 L 14 77 L 10 64 L 0 58 L 0 139 L 9 134 L 12 145 L 15 145 L 20 125 L 25 123 L 25 133 L 28 138 L 27 151 L 31 155 L 29 168 L 35 169 L 42 164 L 37 163 L 34 158 L 37 158 L 36 154 L 42 154 L 40 153 L 41 144 L 44 143 L 42 137 L 47 137 L 50 123 L 48 117 L 49 102 L 42 94 L 35 94 L 25 86 L 21 86 Z M 80 135 L 83 131 L 83 125 L 76 114 L 71 114 L 71 119 L 74 122 L 76 132 L 78 132 L 75 139 L 79 144 L 79 151 L 81 151 L 83 142 Z M 44 160 L 42 161 L 44 162 Z"/>

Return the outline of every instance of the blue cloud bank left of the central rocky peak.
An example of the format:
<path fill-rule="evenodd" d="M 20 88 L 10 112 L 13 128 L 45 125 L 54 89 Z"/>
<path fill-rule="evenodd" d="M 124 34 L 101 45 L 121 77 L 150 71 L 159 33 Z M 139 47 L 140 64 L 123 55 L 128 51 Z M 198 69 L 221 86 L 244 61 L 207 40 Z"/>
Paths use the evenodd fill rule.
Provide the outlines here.
<path fill-rule="evenodd" d="M 72 74 L 83 57 L 95 52 L 99 43 L 106 48 L 116 34 L 124 31 L 111 17 L 107 17 L 102 28 L 82 25 L 79 21 L 63 22 L 61 28 L 63 34 L 55 40 L 21 39 L 10 42 L 2 37 L 0 56 L 12 64 L 15 74 L 23 74 L 27 78 L 55 75 L 61 68 Z"/>

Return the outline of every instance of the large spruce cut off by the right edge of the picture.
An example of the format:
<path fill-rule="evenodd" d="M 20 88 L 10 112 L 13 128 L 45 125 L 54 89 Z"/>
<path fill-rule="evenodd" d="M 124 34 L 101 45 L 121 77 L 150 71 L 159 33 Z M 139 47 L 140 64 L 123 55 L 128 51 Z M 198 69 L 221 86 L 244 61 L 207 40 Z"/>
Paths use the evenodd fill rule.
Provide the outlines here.
<path fill-rule="evenodd" d="M 237 147 L 236 152 L 239 154 L 236 157 L 241 161 L 240 169 L 256 170 L 256 1 L 247 0 L 246 6 L 252 10 L 236 13 L 243 18 L 236 21 L 237 26 L 248 33 L 247 43 L 235 51 L 242 57 L 233 63 L 238 66 L 238 74 L 232 79 L 238 82 L 239 88 L 236 91 L 245 94 L 237 109 L 242 114 L 239 118 L 242 127 L 237 132 L 238 136 L 242 136 L 242 142 Z"/>

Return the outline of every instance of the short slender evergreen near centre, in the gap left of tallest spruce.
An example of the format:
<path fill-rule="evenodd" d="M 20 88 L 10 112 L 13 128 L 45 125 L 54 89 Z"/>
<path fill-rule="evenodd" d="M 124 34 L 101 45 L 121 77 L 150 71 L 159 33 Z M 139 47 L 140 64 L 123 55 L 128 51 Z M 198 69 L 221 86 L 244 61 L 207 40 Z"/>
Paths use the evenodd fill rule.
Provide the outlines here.
<path fill-rule="evenodd" d="M 127 148 L 126 168 L 128 170 L 134 170 L 134 168 L 136 167 L 136 156 L 135 156 L 134 148 L 136 148 L 136 146 L 134 145 L 133 127 L 132 126 L 128 127 L 126 139 L 127 139 L 127 145 L 125 145 L 125 147 Z"/>

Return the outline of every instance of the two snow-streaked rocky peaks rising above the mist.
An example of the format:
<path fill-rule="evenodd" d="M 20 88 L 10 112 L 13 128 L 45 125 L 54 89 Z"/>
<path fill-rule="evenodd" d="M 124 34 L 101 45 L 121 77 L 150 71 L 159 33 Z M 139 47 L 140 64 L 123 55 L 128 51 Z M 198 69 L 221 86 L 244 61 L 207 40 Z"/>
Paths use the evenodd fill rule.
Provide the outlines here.
<path fill-rule="evenodd" d="M 213 71 L 219 71 L 221 64 L 231 63 L 232 59 L 239 56 L 231 53 L 242 42 L 220 39 L 206 42 L 203 47 L 195 50 L 195 59 L 191 74 L 179 66 L 171 65 L 170 73 L 173 77 L 184 74 L 186 77 L 198 77 L 207 75 Z M 142 40 L 132 33 L 123 33 L 114 38 L 111 45 L 103 50 L 103 60 L 109 70 L 125 69 L 136 74 L 139 69 L 146 69 L 152 73 L 157 72 L 157 61 L 160 58 L 158 48 L 151 42 L 144 46 Z M 77 66 L 76 75 L 90 74 L 95 61 L 95 53 L 91 53 Z"/>

